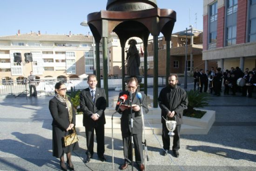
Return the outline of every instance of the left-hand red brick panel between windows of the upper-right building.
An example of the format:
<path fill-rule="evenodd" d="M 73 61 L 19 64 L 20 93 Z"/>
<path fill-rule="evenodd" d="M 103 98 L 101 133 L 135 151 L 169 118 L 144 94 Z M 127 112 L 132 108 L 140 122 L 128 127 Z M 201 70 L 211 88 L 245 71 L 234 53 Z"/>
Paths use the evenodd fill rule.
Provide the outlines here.
<path fill-rule="evenodd" d="M 224 15 L 225 15 L 225 8 L 220 7 L 218 8 L 218 20 L 217 20 L 217 42 L 216 47 L 223 47 L 224 46 Z"/>

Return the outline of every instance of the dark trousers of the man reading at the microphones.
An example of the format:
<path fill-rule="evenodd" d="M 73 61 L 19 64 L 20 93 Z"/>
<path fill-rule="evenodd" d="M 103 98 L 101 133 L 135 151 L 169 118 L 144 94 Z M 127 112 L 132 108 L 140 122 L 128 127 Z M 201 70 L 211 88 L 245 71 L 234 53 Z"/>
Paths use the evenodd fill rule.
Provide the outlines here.
<path fill-rule="evenodd" d="M 131 142 L 131 133 L 122 133 L 123 139 L 123 155 L 124 162 L 131 163 L 132 158 L 132 142 Z M 137 164 L 143 164 L 143 149 L 142 149 L 142 130 L 138 134 L 133 134 L 134 150 L 135 150 L 135 162 Z"/>

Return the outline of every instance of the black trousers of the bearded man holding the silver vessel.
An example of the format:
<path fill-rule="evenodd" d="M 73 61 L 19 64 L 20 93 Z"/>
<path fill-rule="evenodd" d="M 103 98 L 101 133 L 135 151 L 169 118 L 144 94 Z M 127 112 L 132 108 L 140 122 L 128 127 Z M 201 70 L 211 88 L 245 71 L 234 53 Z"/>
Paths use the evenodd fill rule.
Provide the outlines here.
<path fill-rule="evenodd" d="M 181 132 L 182 125 L 176 125 L 176 129 L 174 130 L 174 137 L 173 137 L 173 146 L 172 150 L 179 150 L 180 149 L 180 132 Z M 163 142 L 163 149 L 170 150 L 170 136 L 168 135 L 169 131 L 166 127 L 166 124 L 162 124 L 162 142 Z"/>

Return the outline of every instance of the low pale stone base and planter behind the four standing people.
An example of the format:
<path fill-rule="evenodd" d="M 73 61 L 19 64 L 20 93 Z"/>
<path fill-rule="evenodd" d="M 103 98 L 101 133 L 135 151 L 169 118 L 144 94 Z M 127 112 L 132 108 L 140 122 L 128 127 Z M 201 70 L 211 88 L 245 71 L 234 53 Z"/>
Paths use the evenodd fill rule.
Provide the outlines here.
<path fill-rule="evenodd" d="M 206 113 L 200 119 L 183 116 L 181 134 L 207 134 L 209 132 L 211 126 L 215 121 L 215 111 L 209 111 L 209 110 L 202 110 L 202 111 L 206 111 Z M 112 131 L 111 116 L 113 112 L 115 112 L 114 107 L 108 107 L 105 110 L 105 117 L 106 117 L 105 133 L 111 133 Z M 162 134 L 161 109 L 149 108 L 148 114 L 144 116 L 148 120 L 154 133 L 161 135 Z M 121 118 L 121 115 L 118 113 L 116 113 L 115 116 L 113 117 L 114 133 L 121 133 L 120 118 Z M 83 122 L 83 115 L 76 115 L 77 132 L 85 132 L 85 128 L 82 122 Z M 144 120 L 145 134 L 152 134 L 152 130 L 148 122 Z"/>

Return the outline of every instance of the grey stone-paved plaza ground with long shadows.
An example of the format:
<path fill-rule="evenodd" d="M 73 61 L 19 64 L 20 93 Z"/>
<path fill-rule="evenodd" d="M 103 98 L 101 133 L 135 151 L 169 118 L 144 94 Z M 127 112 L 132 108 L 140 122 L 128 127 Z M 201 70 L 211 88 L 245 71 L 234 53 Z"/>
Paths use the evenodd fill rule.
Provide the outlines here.
<path fill-rule="evenodd" d="M 109 96 L 118 93 L 110 91 Z M 153 88 L 148 88 L 148 94 L 153 94 Z M 256 171 L 255 97 L 255 93 L 253 98 L 241 97 L 239 93 L 237 96 L 213 96 L 205 109 L 216 111 L 216 122 L 207 135 L 182 135 L 179 158 L 174 158 L 172 153 L 161 156 L 161 135 L 146 135 L 149 156 L 146 170 Z M 52 156 L 52 118 L 48 110 L 51 98 L 0 96 L 1 171 L 60 170 L 59 159 Z M 80 149 L 72 154 L 75 170 L 112 171 L 111 137 L 111 134 L 105 134 L 107 162 L 102 163 L 95 153 L 91 162 L 84 164 L 86 138 L 81 132 Z M 114 149 L 114 170 L 118 171 L 123 163 L 120 134 L 114 134 Z M 137 170 L 134 164 L 134 171 Z M 132 171 L 132 167 L 129 166 L 127 171 Z"/>

